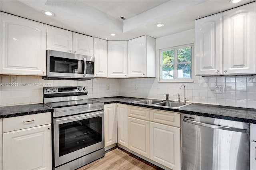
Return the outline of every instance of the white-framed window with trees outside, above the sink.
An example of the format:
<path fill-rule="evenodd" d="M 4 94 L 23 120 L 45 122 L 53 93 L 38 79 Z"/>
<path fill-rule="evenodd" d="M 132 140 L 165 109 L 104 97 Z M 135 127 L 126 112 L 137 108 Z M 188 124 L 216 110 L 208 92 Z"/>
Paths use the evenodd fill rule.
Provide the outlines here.
<path fill-rule="evenodd" d="M 160 81 L 191 81 L 194 45 L 160 49 Z"/>

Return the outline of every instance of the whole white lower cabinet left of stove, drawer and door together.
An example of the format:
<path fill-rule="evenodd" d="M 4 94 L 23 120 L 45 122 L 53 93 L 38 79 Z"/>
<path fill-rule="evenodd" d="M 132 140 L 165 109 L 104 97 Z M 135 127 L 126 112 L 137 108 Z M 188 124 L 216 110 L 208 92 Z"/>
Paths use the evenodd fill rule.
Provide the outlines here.
<path fill-rule="evenodd" d="M 42 114 L 42 115 L 41 115 Z M 31 119 L 31 116 L 34 117 Z M 23 121 L 23 118 L 28 118 Z M 48 121 L 40 123 L 48 117 Z M 10 123 L 23 119 L 10 130 Z M 8 121 L 5 121 L 8 120 Z M 36 125 L 36 126 L 33 126 Z M 51 113 L 3 119 L 3 169 L 4 170 L 50 170 L 52 169 Z M 26 128 L 29 127 L 29 128 Z M 18 129 L 17 129 L 18 128 Z"/>

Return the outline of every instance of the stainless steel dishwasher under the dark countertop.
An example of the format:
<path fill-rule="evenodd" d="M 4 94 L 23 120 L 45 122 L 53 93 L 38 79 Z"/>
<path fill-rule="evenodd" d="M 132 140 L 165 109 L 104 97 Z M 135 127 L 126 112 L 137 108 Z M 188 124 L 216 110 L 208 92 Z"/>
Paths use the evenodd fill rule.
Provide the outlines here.
<path fill-rule="evenodd" d="M 182 170 L 249 170 L 249 123 L 182 114 Z"/>

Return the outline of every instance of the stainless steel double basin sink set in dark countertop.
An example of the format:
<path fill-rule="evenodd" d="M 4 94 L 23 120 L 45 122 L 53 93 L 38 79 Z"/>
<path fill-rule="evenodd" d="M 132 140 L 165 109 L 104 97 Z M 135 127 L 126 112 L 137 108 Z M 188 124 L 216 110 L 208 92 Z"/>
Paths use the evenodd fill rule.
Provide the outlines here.
<path fill-rule="evenodd" d="M 177 101 L 163 101 L 163 100 L 156 100 L 156 99 L 144 99 L 140 101 L 134 101 L 132 103 L 138 103 L 142 105 L 154 105 L 154 106 L 160 106 L 160 107 L 169 107 L 169 108 L 175 108 L 175 109 L 191 104 L 191 103 L 183 103 L 183 102 L 177 102 Z"/>

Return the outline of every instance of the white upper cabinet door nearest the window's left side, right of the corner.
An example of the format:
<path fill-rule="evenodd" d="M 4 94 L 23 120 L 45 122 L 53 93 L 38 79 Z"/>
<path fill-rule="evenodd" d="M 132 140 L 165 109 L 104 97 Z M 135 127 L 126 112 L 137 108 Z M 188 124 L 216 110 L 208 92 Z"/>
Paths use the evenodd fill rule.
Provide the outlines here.
<path fill-rule="evenodd" d="M 147 38 L 146 36 L 128 41 L 128 77 L 146 77 Z"/>

